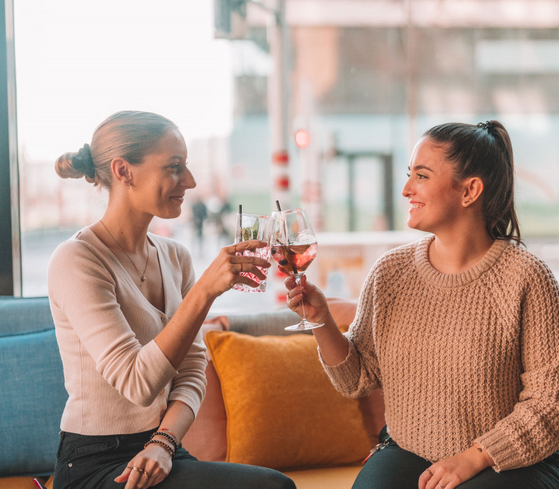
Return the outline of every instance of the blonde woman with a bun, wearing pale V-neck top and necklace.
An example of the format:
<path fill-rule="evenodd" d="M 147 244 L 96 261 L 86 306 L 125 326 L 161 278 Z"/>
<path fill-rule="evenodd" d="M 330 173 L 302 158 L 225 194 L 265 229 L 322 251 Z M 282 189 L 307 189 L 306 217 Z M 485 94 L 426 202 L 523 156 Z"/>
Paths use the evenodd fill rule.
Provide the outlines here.
<path fill-rule="evenodd" d="M 62 155 L 63 178 L 108 191 L 103 216 L 57 247 L 48 291 L 68 401 L 56 489 L 294 489 L 275 470 L 196 460 L 180 441 L 205 393 L 200 326 L 212 302 L 263 258 L 224 247 L 196 281 L 180 243 L 147 232 L 154 216 L 178 217 L 196 187 L 177 126 L 151 112 L 117 112 L 91 144 Z"/>

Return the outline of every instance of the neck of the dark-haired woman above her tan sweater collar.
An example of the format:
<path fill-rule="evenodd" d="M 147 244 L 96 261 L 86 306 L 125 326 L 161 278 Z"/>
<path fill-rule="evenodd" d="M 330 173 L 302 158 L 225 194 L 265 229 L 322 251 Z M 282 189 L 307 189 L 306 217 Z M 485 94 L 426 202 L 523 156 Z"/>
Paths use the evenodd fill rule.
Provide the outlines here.
<path fill-rule="evenodd" d="M 435 235 L 428 251 L 429 261 L 435 270 L 444 274 L 465 272 L 479 263 L 493 242 L 485 229 L 460 235 Z"/>

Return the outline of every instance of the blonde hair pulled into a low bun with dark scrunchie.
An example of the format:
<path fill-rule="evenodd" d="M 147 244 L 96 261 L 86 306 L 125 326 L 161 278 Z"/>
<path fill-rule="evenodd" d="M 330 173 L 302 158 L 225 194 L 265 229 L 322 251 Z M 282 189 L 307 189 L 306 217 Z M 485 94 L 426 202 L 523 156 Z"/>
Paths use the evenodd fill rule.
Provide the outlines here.
<path fill-rule="evenodd" d="M 136 110 L 116 112 L 97 126 L 91 146 L 86 144 L 78 152 L 64 153 L 57 159 L 55 169 L 62 178 L 85 177 L 95 187 L 110 189 L 110 162 L 121 157 L 139 165 L 170 129 L 177 126 L 162 115 Z"/>

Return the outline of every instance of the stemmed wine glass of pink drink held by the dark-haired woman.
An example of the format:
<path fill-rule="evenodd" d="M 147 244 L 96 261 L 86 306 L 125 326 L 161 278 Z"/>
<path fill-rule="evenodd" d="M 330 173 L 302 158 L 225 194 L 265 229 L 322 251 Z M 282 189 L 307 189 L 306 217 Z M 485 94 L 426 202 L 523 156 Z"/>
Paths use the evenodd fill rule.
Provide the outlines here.
<path fill-rule="evenodd" d="M 297 285 L 307 267 L 317 256 L 317 237 L 312 231 L 310 219 L 305 209 L 281 210 L 273 212 L 275 232 L 272 237 L 272 258 L 279 267 L 295 277 Z M 288 331 L 310 330 L 324 326 L 324 323 L 311 323 L 305 317 L 303 300 L 301 305 L 301 321 L 287 326 Z"/>

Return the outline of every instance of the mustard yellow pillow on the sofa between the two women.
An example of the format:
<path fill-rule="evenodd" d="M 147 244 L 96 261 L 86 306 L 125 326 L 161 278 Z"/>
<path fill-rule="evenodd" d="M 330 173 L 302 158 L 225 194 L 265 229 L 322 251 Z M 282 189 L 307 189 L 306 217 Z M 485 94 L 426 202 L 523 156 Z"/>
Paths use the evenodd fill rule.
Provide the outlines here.
<path fill-rule="evenodd" d="M 286 469 L 368 454 L 358 402 L 335 391 L 312 335 L 209 331 L 205 341 L 222 384 L 228 462 Z"/>

